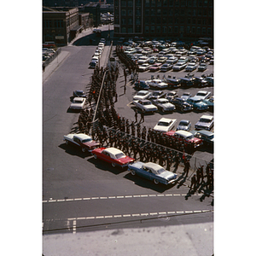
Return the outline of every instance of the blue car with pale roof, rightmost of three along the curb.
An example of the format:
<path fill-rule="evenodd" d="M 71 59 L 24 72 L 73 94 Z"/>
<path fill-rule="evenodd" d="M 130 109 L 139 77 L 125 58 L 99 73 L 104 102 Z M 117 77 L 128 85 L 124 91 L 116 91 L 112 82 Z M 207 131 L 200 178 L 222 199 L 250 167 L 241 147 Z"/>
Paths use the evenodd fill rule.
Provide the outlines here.
<path fill-rule="evenodd" d="M 168 185 L 177 180 L 176 173 L 166 171 L 164 167 L 152 162 L 143 163 L 137 161 L 128 165 L 128 171 L 131 172 L 131 175 L 145 177 L 152 180 L 155 184 L 163 183 Z"/>

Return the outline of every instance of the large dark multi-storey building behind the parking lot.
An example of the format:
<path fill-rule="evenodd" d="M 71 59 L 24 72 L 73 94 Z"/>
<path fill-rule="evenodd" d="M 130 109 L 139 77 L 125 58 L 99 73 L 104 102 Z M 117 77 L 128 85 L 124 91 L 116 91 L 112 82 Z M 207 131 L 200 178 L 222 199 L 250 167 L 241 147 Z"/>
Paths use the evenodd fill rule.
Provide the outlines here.
<path fill-rule="evenodd" d="M 213 38 L 213 0 L 114 0 L 114 37 Z"/>

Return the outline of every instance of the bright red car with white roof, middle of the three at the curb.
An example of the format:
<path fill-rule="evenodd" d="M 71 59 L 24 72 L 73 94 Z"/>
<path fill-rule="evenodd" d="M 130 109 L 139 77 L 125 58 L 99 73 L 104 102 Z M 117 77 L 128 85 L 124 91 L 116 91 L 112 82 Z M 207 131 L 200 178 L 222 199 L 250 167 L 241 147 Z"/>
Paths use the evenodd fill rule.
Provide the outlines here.
<path fill-rule="evenodd" d="M 94 158 L 104 160 L 108 163 L 111 163 L 113 167 L 115 166 L 128 166 L 134 162 L 134 158 L 127 156 L 123 151 L 118 148 L 96 148 L 92 150 L 91 154 L 93 154 Z"/>

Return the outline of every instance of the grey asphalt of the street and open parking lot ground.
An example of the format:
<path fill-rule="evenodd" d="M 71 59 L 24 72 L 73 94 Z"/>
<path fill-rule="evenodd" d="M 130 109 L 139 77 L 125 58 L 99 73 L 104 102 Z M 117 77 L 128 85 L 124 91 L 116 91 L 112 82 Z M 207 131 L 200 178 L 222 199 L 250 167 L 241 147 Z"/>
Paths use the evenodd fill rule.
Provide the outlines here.
<path fill-rule="evenodd" d="M 95 160 L 90 154 L 83 154 L 63 142 L 63 135 L 72 131 L 79 118 L 79 113 L 68 110 L 73 90 L 87 90 L 93 73 L 88 66 L 96 46 L 84 46 L 81 42 L 85 39 L 80 39 L 79 46 L 62 49 L 69 55 L 43 84 L 44 234 L 212 223 L 212 196 L 188 195 L 189 182 L 167 188 L 156 186 L 132 177 L 126 170 Z M 104 49 L 102 61 L 107 52 L 108 46 Z M 140 74 L 140 79 L 143 76 L 148 78 L 150 74 Z M 123 95 L 122 77 L 119 81 L 116 109 L 120 115 L 134 119 L 129 103 L 135 91 L 129 87 Z M 179 94 L 181 92 L 178 90 Z M 195 89 L 190 92 L 194 94 Z M 201 113 L 171 115 L 177 117 L 177 121 L 193 120 L 194 125 Z M 145 125 L 152 127 L 161 116 L 160 113 L 147 115 Z M 205 246 L 212 247 L 212 244 Z"/>

